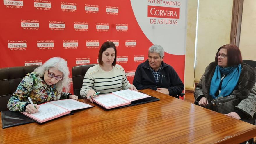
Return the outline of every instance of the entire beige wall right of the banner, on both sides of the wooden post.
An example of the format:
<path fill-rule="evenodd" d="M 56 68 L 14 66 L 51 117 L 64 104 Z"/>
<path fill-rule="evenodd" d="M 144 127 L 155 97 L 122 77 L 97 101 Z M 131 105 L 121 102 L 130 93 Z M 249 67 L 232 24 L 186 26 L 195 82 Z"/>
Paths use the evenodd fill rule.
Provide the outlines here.
<path fill-rule="evenodd" d="M 233 0 L 200 0 L 198 15 L 198 39 L 196 67 L 194 71 L 195 26 L 197 0 L 188 0 L 188 23 L 186 42 L 185 88 L 193 89 L 205 67 L 214 61 L 218 48 L 230 43 Z M 255 60 L 256 52 L 256 1 L 243 2 L 243 16 L 239 48 L 243 59 Z M 193 76 L 194 75 L 194 76 Z"/>

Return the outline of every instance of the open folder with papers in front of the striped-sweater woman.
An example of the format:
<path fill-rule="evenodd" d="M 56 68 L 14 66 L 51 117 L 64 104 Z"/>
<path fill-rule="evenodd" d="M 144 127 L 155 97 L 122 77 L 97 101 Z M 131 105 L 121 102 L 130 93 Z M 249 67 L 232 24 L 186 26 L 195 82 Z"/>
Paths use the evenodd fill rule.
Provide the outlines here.
<path fill-rule="evenodd" d="M 136 104 L 158 101 L 159 99 L 140 93 L 135 90 L 120 90 L 106 95 L 94 97 L 93 102 L 102 106 L 104 109 L 120 108 Z"/>

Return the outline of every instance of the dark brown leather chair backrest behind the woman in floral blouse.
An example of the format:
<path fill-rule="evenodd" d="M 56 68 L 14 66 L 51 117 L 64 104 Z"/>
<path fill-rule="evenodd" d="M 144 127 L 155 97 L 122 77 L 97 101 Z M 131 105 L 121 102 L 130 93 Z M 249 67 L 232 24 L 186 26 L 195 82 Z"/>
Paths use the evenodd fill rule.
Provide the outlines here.
<path fill-rule="evenodd" d="M 7 67 L 0 69 L 0 111 L 8 110 L 7 103 L 11 95 L 16 91 L 22 78 L 33 72 L 38 65 L 23 67 Z"/>

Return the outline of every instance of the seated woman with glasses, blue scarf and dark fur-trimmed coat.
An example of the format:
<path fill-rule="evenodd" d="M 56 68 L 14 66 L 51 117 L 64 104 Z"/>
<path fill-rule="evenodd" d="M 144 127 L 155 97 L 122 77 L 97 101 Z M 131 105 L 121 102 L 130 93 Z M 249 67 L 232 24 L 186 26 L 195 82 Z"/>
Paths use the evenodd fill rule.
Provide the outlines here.
<path fill-rule="evenodd" d="M 195 88 L 195 104 L 232 118 L 254 124 L 256 118 L 255 67 L 242 63 L 236 45 L 223 45 L 216 53 L 215 62 L 206 67 L 205 73 Z M 237 103 L 214 103 L 218 99 L 232 97 Z M 217 101 L 216 101 L 217 102 Z M 222 110 L 216 105 L 223 104 Z M 225 108 L 226 104 L 226 109 Z M 229 111 L 229 110 L 232 111 Z"/>

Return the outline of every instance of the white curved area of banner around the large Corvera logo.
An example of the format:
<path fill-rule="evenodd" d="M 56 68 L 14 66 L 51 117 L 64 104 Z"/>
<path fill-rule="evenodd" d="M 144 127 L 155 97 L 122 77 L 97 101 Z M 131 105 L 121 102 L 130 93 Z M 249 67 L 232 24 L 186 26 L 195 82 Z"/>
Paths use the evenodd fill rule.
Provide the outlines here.
<path fill-rule="evenodd" d="M 169 54 L 184 55 L 186 53 L 187 0 L 176 1 L 180 2 L 180 6 L 170 6 L 154 0 L 131 0 L 131 6 L 141 30 L 153 44 L 163 46 L 165 52 Z M 180 8 L 179 19 L 148 17 L 148 6 Z M 155 24 L 150 23 L 153 22 L 152 19 L 155 19 Z M 171 21 L 172 24 L 161 24 L 161 20 L 162 22 Z M 177 24 L 173 22 L 176 20 Z"/>

